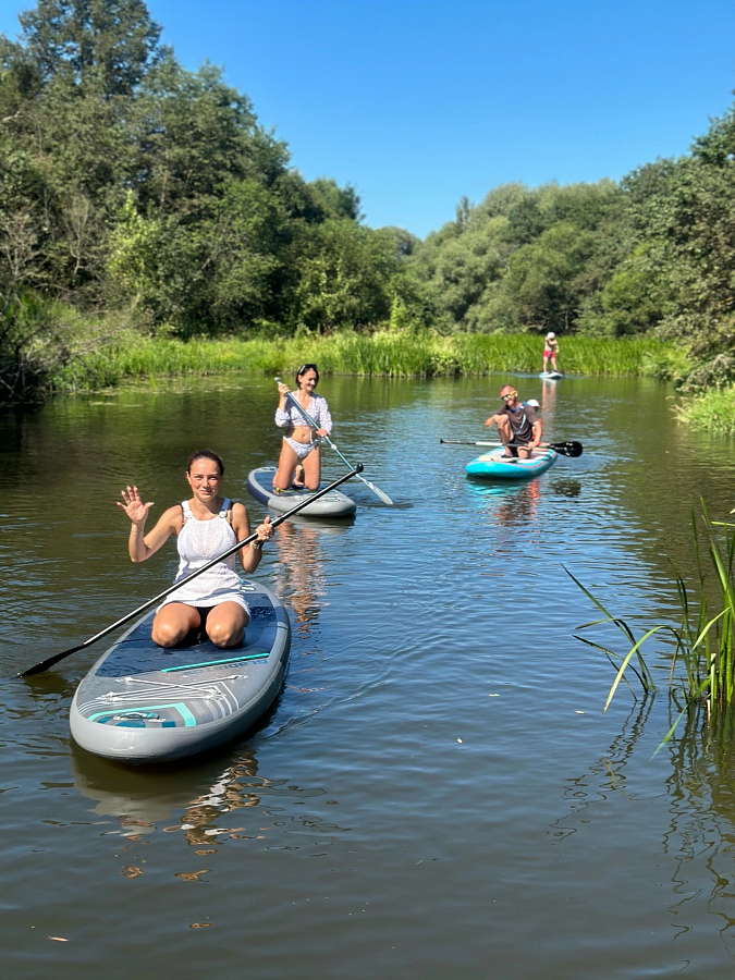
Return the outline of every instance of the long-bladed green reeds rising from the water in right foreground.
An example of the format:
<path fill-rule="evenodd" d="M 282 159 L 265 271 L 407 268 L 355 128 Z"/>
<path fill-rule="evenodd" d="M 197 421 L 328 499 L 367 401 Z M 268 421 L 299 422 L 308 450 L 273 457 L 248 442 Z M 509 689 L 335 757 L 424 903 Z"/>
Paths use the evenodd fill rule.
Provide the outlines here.
<path fill-rule="evenodd" d="M 627 671 L 630 671 L 638 679 L 645 695 L 656 693 L 656 683 L 651 669 L 644 657 L 642 647 L 653 636 L 658 636 L 666 642 L 666 648 L 658 652 L 663 653 L 671 661 L 667 666 L 669 694 L 674 703 L 681 708 L 681 713 L 661 746 L 671 738 L 676 725 L 688 709 L 705 707 L 707 720 L 711 721 L 712 718 L 726 713 L 735 703 L 735 535 L 732 534 L 735 525 L 726 522 L 711 522 L 705 501 L 702 500 L 700 503 L 707 528 L 703 546 L 712 565 L 713 587 L 702 567 L 702 542 L 697 530 L 693 507 L 691 528 L 698 585 L 693 602 L 684 579 L 676 574 L 676 592 L 681 611 L 681 622 L 677 626 L 667 623 L 659 624 L 647 629 L 642 636 L 636 639 L 634 628 L 628 621 L 612 615 L 572 575 L 568 568 L 565 569 L 581 591 L 604 613 L 604 618 L 586 623 L 579 629 L 609 623 L 617 627 L 626 642 L 629 644 L 627 653 L 621 654 L 610 647 L 593 642 L 586 637 L 576 637 L 587 646 L 601 650 L 616 669 L 615 679 L 604 703 L 604 711 L 608 710 L 621 682 L 625 683 L 634 693 L 626 676 Z M 715 537 L 713 531 L 715 526 L 724 528 L 723 540 L 718 540 Z M 681 706 L 682 698 L 684 699 L 683 708 Z"/>

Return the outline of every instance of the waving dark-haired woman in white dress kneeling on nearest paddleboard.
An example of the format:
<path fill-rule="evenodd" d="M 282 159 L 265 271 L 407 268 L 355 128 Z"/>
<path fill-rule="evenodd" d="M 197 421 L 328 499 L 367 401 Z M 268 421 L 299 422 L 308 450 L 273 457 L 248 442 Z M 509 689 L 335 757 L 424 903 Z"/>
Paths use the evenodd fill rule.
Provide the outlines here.
<path fill-rule="evenodd" d="M 175 534 L 181 562 L 174 581 L 179 581 L 236 541 L 247 538 L 250 524 L 245 507 L 218 495 L 223 476 L 224 465 L 217 453 L 209 450 L 193 453 L 186 464 L 186 479 L 194 494 L 192 500 L 169 507 L 145 536 L 146 518 L 152 503 L 143 503 L 135 485 L 123 490 L 124 503 L 117 503 L 133 522 L 127 542 L 132 561 L 145 562 Z M 269 517 L 258 526 L 256 534 L 258 540 L 238 552 L 240 563 L 248 575 L 260 563 L 262 542 L 273 536 Z M 216 646 L 236 647 L 243 640 L 248 621 L 249 609 L 235 572 L 233 554 L 163 600 L 154 620 L 151 637 L 159 647 L 175 647 L 189 633 L 204 629 Z"/>

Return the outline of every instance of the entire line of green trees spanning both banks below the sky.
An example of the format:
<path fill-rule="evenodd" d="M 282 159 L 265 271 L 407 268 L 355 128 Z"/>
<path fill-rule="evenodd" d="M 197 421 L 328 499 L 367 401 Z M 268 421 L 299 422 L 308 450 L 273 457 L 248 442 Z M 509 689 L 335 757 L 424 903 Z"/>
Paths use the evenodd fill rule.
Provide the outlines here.
<path fill-rule="evenodd" d="M 0 36 L 0 401 L 130 333 L 654 334 L 735 380 L 735 115 L 620 184 L 509 184 L 419 241 L 305 181 L 144 0 L 38 0 Z M 122 339 L 122 340 L 121 340 Z"/>

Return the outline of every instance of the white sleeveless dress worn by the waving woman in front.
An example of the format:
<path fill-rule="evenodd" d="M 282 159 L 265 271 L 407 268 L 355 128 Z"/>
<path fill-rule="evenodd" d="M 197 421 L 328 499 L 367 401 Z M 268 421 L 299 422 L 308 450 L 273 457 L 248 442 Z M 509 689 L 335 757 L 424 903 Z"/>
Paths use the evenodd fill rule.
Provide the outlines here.
<path fill-rule="evenodd" d="M 184 526 L 176 542 L 181 561 L 174 583 L 206 565 L 237 540 L 235 532 L 228 524 L 229 499 L 222 504 L 222 510 L 217 517 L 210 517 L 208 520 L 198 520 L 192 513 L 187 500 L 182 502 L 181 509 L 184 512 Z M 161 605 L 166 605 L 168 602 L 185 602 L 187 605 L 200 608 L 219 605 L 220 602 L 237 602 L 249 612 L 240 578 L 235 572 L 234 554 L 223 562 L 218 562 L 208 572 L 203 572 L 194 581 L 171 592 Z"/>

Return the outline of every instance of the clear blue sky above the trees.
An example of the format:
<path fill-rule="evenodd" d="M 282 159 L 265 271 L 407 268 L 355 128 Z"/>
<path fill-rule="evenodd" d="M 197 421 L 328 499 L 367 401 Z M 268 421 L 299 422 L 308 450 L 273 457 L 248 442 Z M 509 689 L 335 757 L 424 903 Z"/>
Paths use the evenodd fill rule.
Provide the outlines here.
<path fill-rule="evenodd" d="M 0 0 L 14 36 L 29 0 Z M 732 102 L 734 0 L 149 0 L 223 65 L 307 180 L 426 235 L 498 184 L 620 179 Z"/>

